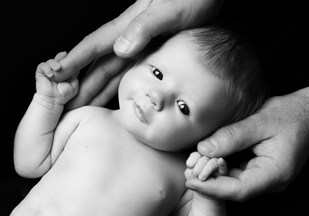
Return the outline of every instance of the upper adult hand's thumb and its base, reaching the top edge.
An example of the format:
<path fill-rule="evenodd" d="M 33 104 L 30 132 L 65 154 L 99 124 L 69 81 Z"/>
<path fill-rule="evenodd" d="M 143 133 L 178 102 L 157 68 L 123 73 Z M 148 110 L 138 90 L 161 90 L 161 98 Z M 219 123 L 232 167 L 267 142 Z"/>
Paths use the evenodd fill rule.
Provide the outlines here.
<path fill-rule="evenodd" d="M 197 27 L 218 12 L 223 1 L 162 1 L 134 17 L 114 44 L 117 56 L 128 58 L 141 51 L 151 38 L 167 32 Z"/>

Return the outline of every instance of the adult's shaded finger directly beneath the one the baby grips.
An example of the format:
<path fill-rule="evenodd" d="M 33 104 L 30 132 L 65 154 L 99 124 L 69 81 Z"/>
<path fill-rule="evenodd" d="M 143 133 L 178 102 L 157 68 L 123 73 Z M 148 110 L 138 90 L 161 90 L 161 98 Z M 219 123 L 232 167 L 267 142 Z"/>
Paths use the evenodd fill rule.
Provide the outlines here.
<path fill-rule="evenodd" d="M 84 75 L 79 84 L 78 94 L 65 106 L 66 110 L 73 110 L 86 105 L 105 85 L 108 79 L 127 64 L 128 59 L 123 59 L 110 53 L 97 58 Z M 118 85 L 111 86 L 118 90 Z M 110 98 L 107 98 L 109 100 Z"/>

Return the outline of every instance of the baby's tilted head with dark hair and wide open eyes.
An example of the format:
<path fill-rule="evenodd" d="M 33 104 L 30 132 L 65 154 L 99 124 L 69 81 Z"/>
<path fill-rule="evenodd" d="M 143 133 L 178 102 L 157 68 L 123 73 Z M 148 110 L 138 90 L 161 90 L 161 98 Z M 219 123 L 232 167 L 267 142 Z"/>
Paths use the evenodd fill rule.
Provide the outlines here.
<path fill-rule="evenodd" d="M 176 152 L 254 112 L 265 92 L 252 47 L 211 24 L 177 33 L 124 75 L 120 120 L 143 143 Z"/>

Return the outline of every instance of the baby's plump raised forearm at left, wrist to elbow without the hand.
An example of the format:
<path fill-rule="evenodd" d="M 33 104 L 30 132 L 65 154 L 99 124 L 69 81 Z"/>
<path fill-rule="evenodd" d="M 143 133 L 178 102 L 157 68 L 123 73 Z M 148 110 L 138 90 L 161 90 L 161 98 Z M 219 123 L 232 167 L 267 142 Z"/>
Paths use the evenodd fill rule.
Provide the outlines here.
<path fill-rule="evenodd" d="M 50 168 L 53 131 L 63 106 L 38 93 L 19 123 L 14 140 L 14 164 L 23 177 L 44 175 Z"/>

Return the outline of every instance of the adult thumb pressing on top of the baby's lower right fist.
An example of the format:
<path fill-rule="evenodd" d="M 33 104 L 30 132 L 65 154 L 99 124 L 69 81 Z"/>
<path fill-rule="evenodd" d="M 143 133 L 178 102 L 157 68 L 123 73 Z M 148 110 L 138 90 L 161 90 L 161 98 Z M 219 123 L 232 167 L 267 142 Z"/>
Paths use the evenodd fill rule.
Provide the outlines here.
<path fill-rule="evenodd" d="M 218 129 L 197 145 L 197 151 L 210 158 L 225 157 L 267 139 L 267 123 L 260 114 Z"/>

